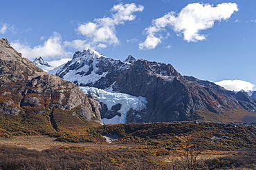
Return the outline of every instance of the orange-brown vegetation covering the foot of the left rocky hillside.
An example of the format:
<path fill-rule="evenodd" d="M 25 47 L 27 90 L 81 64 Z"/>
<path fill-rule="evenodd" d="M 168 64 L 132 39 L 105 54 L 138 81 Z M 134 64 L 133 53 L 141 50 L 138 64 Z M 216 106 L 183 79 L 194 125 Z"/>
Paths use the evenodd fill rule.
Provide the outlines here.
<path fill-rule="evenodd" d="M 48 111 L 50 114 L 3 114 L 0 116 L 0 137 L 48 135 L 66 142 L 96 140 L 98 136 L 91 134 L 89 127 L 97 127 L 100 124 L 80 116 L 72 116 L 71 113 L 76 109 L 79 108 L 71 111 L 53 109 Z"/>

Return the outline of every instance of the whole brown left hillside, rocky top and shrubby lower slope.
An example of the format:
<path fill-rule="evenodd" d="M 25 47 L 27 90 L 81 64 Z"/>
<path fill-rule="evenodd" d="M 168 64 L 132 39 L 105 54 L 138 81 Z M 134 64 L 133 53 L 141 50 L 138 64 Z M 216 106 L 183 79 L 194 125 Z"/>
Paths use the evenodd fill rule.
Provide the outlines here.
<path fill-rule="evenodd" d="M 87 120 L 102 123 L 95 103 L 77 85 L 22 58 L 7 39 L 0 39 L 0 115 L 3 134 L 80 131 Z"/>

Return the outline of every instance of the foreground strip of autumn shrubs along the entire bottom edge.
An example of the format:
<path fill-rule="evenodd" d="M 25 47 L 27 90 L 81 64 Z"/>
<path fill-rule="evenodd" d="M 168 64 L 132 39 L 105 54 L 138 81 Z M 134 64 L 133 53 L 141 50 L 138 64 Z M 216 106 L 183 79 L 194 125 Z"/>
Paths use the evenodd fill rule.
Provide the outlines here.
<path fill-rule="evenodd" d="M 203 160 L 187 160 L 172 151 L 166 156 L 133 148 L 107 149 L 98 145 L 84 147 L 59 147 L 43 151 L 21 147 L 0 147 L 0 169 L 255 169 L 256 151 L 238 151 L 229 156 Z M 186 149 L 179 150 L 185 151 Z M 188 151 L 188 150 L 187 150 Z M 194 150 L 196 151 L 196 150 Z"/>

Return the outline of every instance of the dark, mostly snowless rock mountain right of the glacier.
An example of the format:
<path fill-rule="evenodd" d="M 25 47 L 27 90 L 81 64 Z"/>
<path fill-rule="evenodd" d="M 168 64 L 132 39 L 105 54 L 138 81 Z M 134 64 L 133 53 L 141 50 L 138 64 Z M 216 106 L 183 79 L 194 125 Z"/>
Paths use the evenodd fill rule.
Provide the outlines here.
<path fill-rule="evenodd" d="M 209 81 L 181 76 L 172 65 L 145 60 L 123 71 L 113 89 L 147 98 L 148 111 L 141 115 L 142 122 L 193 120 L 196 110 L 215 114 L 227 109 L 256 111 L 256 100 L 244 92 L 235 94 Z"/>

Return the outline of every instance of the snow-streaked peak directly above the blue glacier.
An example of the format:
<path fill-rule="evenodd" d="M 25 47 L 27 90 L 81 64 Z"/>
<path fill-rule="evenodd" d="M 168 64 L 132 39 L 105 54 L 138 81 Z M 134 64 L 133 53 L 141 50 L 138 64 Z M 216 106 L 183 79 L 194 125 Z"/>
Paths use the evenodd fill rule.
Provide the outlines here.
<path fill-rule="evenodd" d="M 52 74 L 80 86 L 105 89 L 116 81 L 118 73 L 129 67 L 131 63 L 123 63 L 88 49 L 75 52 L 71 61 L 58 67 Z"/>

